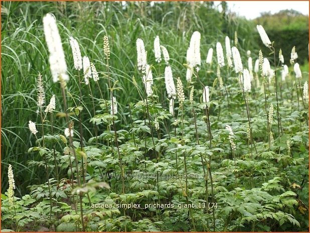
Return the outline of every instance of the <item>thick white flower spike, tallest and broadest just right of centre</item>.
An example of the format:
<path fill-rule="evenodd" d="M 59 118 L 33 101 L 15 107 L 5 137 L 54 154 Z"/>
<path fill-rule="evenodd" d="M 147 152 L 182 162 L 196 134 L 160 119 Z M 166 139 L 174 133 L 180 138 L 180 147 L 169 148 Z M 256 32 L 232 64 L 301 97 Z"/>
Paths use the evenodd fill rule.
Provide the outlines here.
<path fill-rule="evenodd" d="M 201 57 L 200 57 L 200 32 L 196 31 L 193 33 L 190 41 L 190 46 L 187 51 L 187 63 L 192 68 L 201 65 Z"/>

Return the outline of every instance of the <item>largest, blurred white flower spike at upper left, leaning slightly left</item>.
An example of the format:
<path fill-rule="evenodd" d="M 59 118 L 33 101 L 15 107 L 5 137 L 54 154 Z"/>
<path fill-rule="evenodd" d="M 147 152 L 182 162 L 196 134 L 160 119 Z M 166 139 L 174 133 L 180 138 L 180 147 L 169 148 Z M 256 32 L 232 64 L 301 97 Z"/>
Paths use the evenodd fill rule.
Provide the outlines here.
<path fill-rule="evenodd" d="M 49 63 L 53 82 L 69 81 L 64 50 L 56 25 L 56 19 L 52 14 L 46 14 L 46 16 L 43 17 L 43 29 L 47 47 L 50 52 Z"/>

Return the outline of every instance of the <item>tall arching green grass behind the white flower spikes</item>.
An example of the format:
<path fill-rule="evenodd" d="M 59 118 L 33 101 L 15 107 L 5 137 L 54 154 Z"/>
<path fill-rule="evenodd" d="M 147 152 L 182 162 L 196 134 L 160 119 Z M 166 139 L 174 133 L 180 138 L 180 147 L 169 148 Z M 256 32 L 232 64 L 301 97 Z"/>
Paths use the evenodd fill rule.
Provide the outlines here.
<path fill-rule="evenodd" d="M 255 29 L 255 23 L 227 14 L 225 11 L 219 12 L 215 6 L 218 4 L 220 3 L 173 2 L 151 7 L 148 2 L 139 2 L 129 3 L 123 8 L 121 3 L 104 2 L 2 2 L 2 190 L 7 189 L 8 181 L 4 174 L 9 163 L 14 167 L 18 196 L 27 192 L 28 185 L 42 183 L 45 179 L 44 169 L 29 167 L 26 164 L 27 160 L 39 160 L 33 157 L 36 155 L 27 153 L 35 141 L 28 129 L 28 121 L 40 122 L 36 114 L 38 72 L 44 77 L 47 101 L 52 94 L 60 96 L 59 85 L 52 82 L 49 70 L 49 54 L 42 24 L 45 14 L 53 13 L 56 16 L 70 75 L 68 91 L 75 98 L 78 95 L 78 82 L 73 75 L 75 73 L 69 37 L 75 37 L 80 44 L 82 55 L 88 56 L 94 62 L 101 77 L 100 86 L 105 90 L 103 95 L 107 98 L 107 82 L 102 77 L 103 71 L 106 70 L 103 59 L 103 36 L 108 35 L 112 79 L 118 80 L 117 86 L 121 87 L 116 93 L 119 111 L 123 112 L 119 117 L 121 124 L 127 124 L 125 106 L 139 99 L 131 81 L 132 76 L 139 77 L 136 69 L 137 38 L 142 38 L 145 43 L 148 63 L 154 64 L 153 39 L 159 35 L 161 44 L 169 51 L 174 77 L 181 77 L 183 80 L 186 74 L 183 63 L 186 63 L 186 51 L 194 31 L 200 31 L 202 34 L 202 61 L 205 61 L 209 48 L 215 49 L 217 41 L 224 46 L 225 36 L 233 39 L 235 31 L 238 32 L 241 55 L 245 57 L 246 51 L 251 50 L 253 60 L 257 58 L 258 48 L 262 47 L 262 43 Z M 298 46 L 306 48 L 307 43 L 308 38 L 303 38 Z M 286 52 L 290 49 L 291 47 L 282 48 Z M 215 62 L 215 51 L 213 59 Z M 289 58 L 285 57 L 285 61 L 288 60 Z M 307 60 L 301 58 L 298 62 L 303 63 L 303 71 L 308 71 Z M 204 69 L 200 75 L 206 85 L 212 85 L 213 79 L 207 78 Z M 158 77 L 158 74 L 153 76 Z M 137 81 L 141 85 L 139 78 Z M 95 88 L 93 86 L 93 89 Z M 86 89 L 83 95 L 84 100 L 89 98 L 91 101 Z M 94 96 L 99 98 L 99 92 L 95 92 Z M 62 100 L 57 99 L 56 103 L 62 103 Z M 86 111 L 83 111 L 83 119 L 91 118 L 93 109 L 90 106 L 91 104 Z M 56 107 L 58 111 L 64 111 L 61 108 L 62 104 Z M 57 119 L 55 125 L 61 132 L 65 122 Z M 94 136 L 92 125 L 88 121 L 84 122 L 84 129 L 90 129 L 84 132 L 85 138 Z"/>

